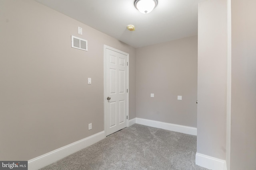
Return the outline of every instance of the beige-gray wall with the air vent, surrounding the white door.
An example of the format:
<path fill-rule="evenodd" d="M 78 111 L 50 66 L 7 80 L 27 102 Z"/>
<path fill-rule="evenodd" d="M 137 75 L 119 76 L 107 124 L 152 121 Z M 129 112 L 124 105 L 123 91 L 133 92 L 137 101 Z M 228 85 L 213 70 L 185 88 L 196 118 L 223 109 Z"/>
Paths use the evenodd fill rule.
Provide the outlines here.
<path fill-rule="evenodd" d="M 71 48 L 71 35 L 88 40 L 88 52 Z M 133 47 L 32 0 L 0 1 L 0 160 L 30 160 L 104 131 L 104 44 L 130 54 L 132 119 Z"/>

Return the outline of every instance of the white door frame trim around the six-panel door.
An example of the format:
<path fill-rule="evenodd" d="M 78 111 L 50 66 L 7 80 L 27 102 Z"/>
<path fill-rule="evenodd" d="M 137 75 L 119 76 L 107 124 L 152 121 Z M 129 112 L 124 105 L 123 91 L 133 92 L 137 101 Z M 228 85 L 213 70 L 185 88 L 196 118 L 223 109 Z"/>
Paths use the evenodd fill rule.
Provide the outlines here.
<path fill-rule="evenodd" d="M 127 93 L 127 110 L 126 110 L 126 116 L 128 116 L 128 119 L 126 121 L 126 127 L 129 126 L 129 54 L 125 53 L 124 51 L 120 51 L 118 49 L 115 49 L 113 47 L 109 47 L 108 45 L 104 45 L 104 131 L 105 131 L 105 136 L 106 136 L 106 49 L 110 49 L 113 51 L 116 51 L 118 53 L 121 53 L 123 55 L 127 56 L 127 62 L 128 62 L 128 66 L 127 66 L 127 89 L 128 89 L 128 93 Z"/>

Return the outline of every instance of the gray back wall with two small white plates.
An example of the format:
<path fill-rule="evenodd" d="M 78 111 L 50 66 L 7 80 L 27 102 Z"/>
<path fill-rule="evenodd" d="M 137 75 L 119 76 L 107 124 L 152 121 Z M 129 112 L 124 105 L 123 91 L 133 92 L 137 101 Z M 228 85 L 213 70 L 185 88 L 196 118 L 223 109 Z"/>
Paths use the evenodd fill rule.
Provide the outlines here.
<path fill-rule="evenodd" d="M 196 127 L 196 99 L 197 36 L 136 49 L 136 117 Z"/>

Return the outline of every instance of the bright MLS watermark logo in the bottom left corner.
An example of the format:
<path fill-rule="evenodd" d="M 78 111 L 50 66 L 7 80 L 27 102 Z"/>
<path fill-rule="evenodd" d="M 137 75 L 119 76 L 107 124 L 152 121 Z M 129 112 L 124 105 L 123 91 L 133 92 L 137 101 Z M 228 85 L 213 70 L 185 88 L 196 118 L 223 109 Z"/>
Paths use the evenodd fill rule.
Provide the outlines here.
<path fill-rule="evenodd" d="M 28 170 L 28 161 L 0 161 L 0 170 Z"/>

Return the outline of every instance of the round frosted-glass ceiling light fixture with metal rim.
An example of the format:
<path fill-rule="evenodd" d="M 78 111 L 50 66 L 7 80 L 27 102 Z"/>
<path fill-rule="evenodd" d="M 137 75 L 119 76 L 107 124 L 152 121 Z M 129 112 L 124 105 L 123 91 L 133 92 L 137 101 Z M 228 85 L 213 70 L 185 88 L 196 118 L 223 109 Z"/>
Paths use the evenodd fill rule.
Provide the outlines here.
<path fill-rule="evenodd" d="M 157 0 L 135 0 L 134 6 L 142 14 L 150 13 L 157 5 Z"/>

